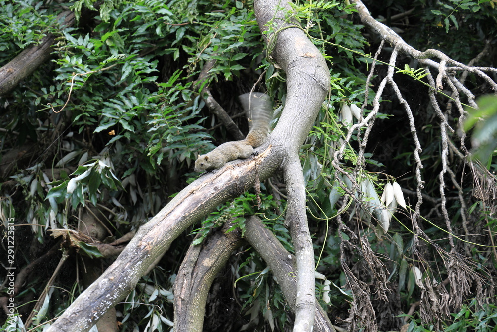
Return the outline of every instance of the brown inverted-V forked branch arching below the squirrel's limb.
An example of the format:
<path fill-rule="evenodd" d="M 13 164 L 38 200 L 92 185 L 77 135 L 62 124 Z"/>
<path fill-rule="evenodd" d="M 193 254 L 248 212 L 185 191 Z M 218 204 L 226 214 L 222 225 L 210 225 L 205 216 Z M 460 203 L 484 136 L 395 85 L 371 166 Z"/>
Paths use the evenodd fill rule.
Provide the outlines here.
<path fill-rule="evenodd" d="M 295 312 L 297 297 L 297 279 L 294 277 L 295 257 L 283 247 L 269 229 L 264 227 L 258 217 L 247 217 L 245 225 L 244 239 L 271 267 L 285 298 Z M 239 230 L 226 233 L 232 226 L 233 224 L 226 223 L 202 245 L 190 246 L 188 249 L 174 284 L 175 331 L 202 331 L 205 304 L 212 281 L 226 264 L 233 250 L 242 243 Z M 314 331 L 336 331 L 317 301 L 315 307 Z"/>

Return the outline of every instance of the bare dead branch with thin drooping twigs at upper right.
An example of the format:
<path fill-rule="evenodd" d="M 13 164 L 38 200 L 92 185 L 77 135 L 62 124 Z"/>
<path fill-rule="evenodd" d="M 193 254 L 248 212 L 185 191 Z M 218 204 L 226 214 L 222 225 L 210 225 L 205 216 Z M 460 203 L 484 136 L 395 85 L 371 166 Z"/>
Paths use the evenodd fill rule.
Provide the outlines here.
<path fill-rule="evenodd" d="M 452 153 L 451 156 L 455 156 L 455 158 L 459 159 L 461 163 L 466 163 L 468 161 L 468 150 L 464 145 L 464 139 L 465 139 L 465 133 L 464 129 L 462 126 L 462 123 L 464 121 L 464 118 L 466 117 L 466 112 L 464 110 L 464 104 L 463 104 L 463 99 L 466 99 L 466 103 L 469 104 L 471 107 L 477 107 L 475 103 L 475 96 L 471 91 L 466 88 L 463 84 L 466 75 L 468 73 L 472 73 L 475 75 L 477 78 L 483 80 L 483 82 L 490 86 L 492 90 L 494 90 L 494 93 L 497 93 L 497 84 L 494 82 L 485 72 L 492 72 L 495 73 L 497 70 L 495 68 L 480 68 L 480 67 L 474 67 L 473 64 L 476 63 L 477 60 L 472 61 L 470 65 L 461 65 L 457 61 L 452 60 L 449 58 L 447 55 L 443 54 L 442 52 L 439 52 L 437 50 L 427 50 L 425 52 L 420 52 L 410 45 L 408 45 L 402 38 L 397 35 L 394 31 L 392 31 L 390 28 L 386 27 L 382 23 L 376 21 L 371 15 L 369 14 L 367 8 L 364 6 L 364 4 L 360 0 L 351 0 L 352 3 L 356 5 L 356 8 L 359 11 L 359 16 L 361 17 L 361 20 L 363 23 L 368 25 L 369 27 L 373 28 L 375 31 L 377 31 L 380 36 L 382 37 L 382 43 L 383 40 L 389 42 L 393 46 L 393 50 L 390 55 L 389 59 L 389 68 L 387 70 L 387 74 L 385 77 L 380 77 L 380 83 L 377 85 L 375 88 L 375 98 L 372 101 L 372 111 L 364 118 L 359 119 L 359 123 L 352 125 L 351 128 L 349 128 L 348 134 L 346 135 L 344 139 L 344 143 L 338 148 L 338 150 L 334 154 L 334 158 L 332 161 L 332 165 L 335 167 L 335 169 L 338 172 L 342 172 L 340 167 L 340 161 L 343 158 L 343 153 L 346 148 L 346 144 L 350 141 L 352 135 L 357 134 L 358 135 L 358 141 L 360 142 L 360 149 L 359 149 L 359 168 L 363 169 L 364 167 L 364 160 L 363 160 L 363 153 L 364 153 L 364 148 L 367 144 L 367 138 L 369 131 L 371 130 L 374 119 L 376 117 L 376 114 L 379 110 L 379 101 L 384 98 L 382 95 L 385 91 L 386 86 L 390 86 L 395 94 L 395 97 L 397 100 L 400 102 L 402 105 L 405 113 L 408 116 L 409 119 L 409 126 L 410 126 L 410 131 L 412 135 L 412 139 L 414 142 L 414 161 L 415 161 L 415 179 L 417 181 L 417 188 L 415 192 L 410 192 L 411 194 L 415 193 L 417 194 L 417 202 L 415 205 L 414 213 L 411 216 L 411 221 L 413 223 L 414 227 L 414 254 L 417 255 L 417 259 L 419 261 L 423 261 L 422 257 L 420 256 L 420 253 L 417 251 L 416 247 L 419 246 L 419 239 L 420 237 L 426 241 L 427 243 L 430 243 L 434 248 L 436 248 L 436 251 L 439 253 L 439 255 L 443 258 L 445 266 L 447 270 L 449 271 L 449 279 L 451 279 L 451 289 L 450 289 L 450 296 L 449 293 L 445 290 L 445 288 L 441 285 L 436 283 L 436 280 L 427 280 L 424 282 L 424 285 L 422 285 L 423 289 L 423 295 L 422 295 L 422 308 L 421 310 L 421 316 L 423 320 L 425 321 L 432 321 L 432 320 L 438 320 L 440 322 L 443 318 L 445 318 L 448 314 L 448 306 L 454 305 L 456 308 L 458 308 L 461 303 L 462 299 L 464 297 L 463 294 L 469 294 L 468 290 L 471 288 L 470 285 L 473 285 L 473 287 L 477 287 L 479 289 L 479 293 L 483 292 L 483 286 L 482 284 L 484 283 L 484 279 L 479 276 L 477 273 L 475 273 L 475 268 L 472 267 L 467 260 L 463 259 L 460 255 L 456 254 L 455 252 L 455 243 L 454 243 L 454 238 L 456 237 L 455 233 L 453 232 L 452 226 L 451 226 L 451 220 L 448 215 L 447 211 L 447 197 L 446 197 L 446 191 L 447 191 L 447 186 L 445 182 L 445 177 L 446 175 L 449 176 L 450 181 L 452 182 L 453 186 L 457 189 L 458 191 L 458 199 L 461 203 L 461 218 L 462 218 L 462 223 L 463 223 L 463 228 L 465 234 L 469 234 L 469 231 L 467 230 L 467 205 L 464 202 L 464 196 L 463 196 L 463 191 L 462 187 L 456 177 L 457 172 L 452 169 L 451 167 L 451 160 L 449 160 L 449 152 Z M 380 46 L 381 49 L 382 45 Z M 484 50 L 485 51 L 485 50 Z M 480 53 L 484 54 L 485 52 L 482 51 Z M 397 83 L 394 80 L 394 72 L 395 72 L 395 67 L 399 67 L 397 65 L 398 62 L 398 54 L 402 52 L 413 59 L 417 59 L 419 64 L 421 64 L 425 68 L 425 73 L 426 79 L 428 80 L 428 85 L 430 86 L 429 89 L 429 102 L 431 107 L 433 107 L 433 110 L 435 111 L 437 122 L 440 126 L 440 140 L 441 140 L 441 152 L 440 152 L 440 157 L 442 160 L 442 170 L 439 173 L 439 191 L 440 191 L 440 200 L 435 200 L 435 199 L 428 199 L 429 197 L 426 196 L 424 193 L 422 193 L 422 190 L 424 188 L 424 181 L 421 176 L 421 170 L 423 169 L 423 163 L 421 161 L 420 155 L 422 152 L 422 147 L 420 144 L 420 141 L 417 136 L 416 132 L 416 123 L 414 120 L 414 114 L 411 109 L 411 106 L 409 103 L 406 101 L 404 96 L 401 93 L 401 90 L 399 89 Z M 379 50 L 377 51 L 377 54 L 379 53 Z M 376 59 L 377 56 L 375 56 Z M 478 56 L 477 58 L 478 59 Z M 435 74 L 432 74 L 430 72 L 430 69 L 434 69 L 436 71 Z M 372 70 L 370 72 L 370 75 L 372 74 L 374 68 L 372 66 Z M 461 74 L 461 80 L 458 80 L 456 78 L 457 74 Z M 448 95 L 445 93 L 440 93 L 442 89 L 448 90 Z M 367 89 L 366 89 L 367 90 Z M 366 91 L 367 93 L 367 91 Z M 450 95 L 450 96 L 449 96 Z M 449 105 L 447 107 L 447 112 L 442 112 L 440 109 L 440 104 L 442 102 L 439 101 L 441 98 L 447 98 L 449 100 Z M 367 99 L 365 102 L 365 105 L 367 103 Z M 451 118 L 451 106 L 455 105 L 458 114 L 454 114 L 454 117 L 458 118 L 457 125 L 459 126 L 458 128 L 453 128 L 449 124 L 449 118 Z M 363 106 L 364 108 L 364 106 Z M 361 130 L 364 130 L 364 134 L 361 133 Z M 459 137 L 457 137 L 459 135 Z M 456 144 L 454 144 L 453 140 L 459 141 L 460 142 L 460 147 L 456 147 Z M 472 172 L 473 174 L 476 174 L 478 172 L 475 172 L 476 167 L 472 167 Z M 354 176 L 357 176 L 359 169 L 356 168 L 354 171 Z M 474 175 L 475 176 L 475 175 Z M 478 177 L 478 176 L 477 176 Z M 340 181 L 339 178 L 337 178 L 338 181 Z M 461 180 L 462 181 L 462 180 Z M 485 180 L 486 181 L 486 180 Z M 340 185 L 342 187 L 343 183 L 340 181 Z M 354 185 L 355 186 L 355 185 Z M 347 190 L 346 190 L 347 191 Z M 348 193 L 348 191 L 347 191 Z M 341 212 L 344 211 L 345 206 L 347 205 L 348 201 L 352 199 L 354 196 L 354 190 L 352 190 L 351 193 L 348 193 L 351 195 L 350 197 L 345 197 L 343 206 L 341 209 L 338 211 L 338 225 L 339 229 L 349 235 L 351 237 L 351 241 L 344 241 L 343 238 L 341 238 L 342 241 L 342 246 L 341 246 L 341 255 L 342 255 L 342 267 L 347 275 L 347 281 L 348 281 L 348 286 L 351 288 L 353 295 L 354 295 L 354 301 L 352 303 L 352 309 L 350 311 L 350 317 L 347 319 L 348 322 L 351 323 L 351 328 L 353 329 L 354 327 L 357 326 L 357 323 L 360 321 L 363 326 L 365 326 L 366 329 L 369 329 L 370 331 L 374 331 L 376 327 L 374 326 L 374 314 L 370 314 L 371 310 L 368 310 L 370 308 L 370 301 L 369 298 L 364 296 L 362 294 L 362 286 L 361 282 L 357 280 L 357 278 L 353 275 L 351 271 L 349 271 L 348 266 L 345 264 L 345 250 L 349 247 L 351 247 L 351 250 L 357 250 L 357 247 L 355 244 L 352 244 L 351 242 L 356 241 L 357 238 L 353 237 L 352 231 L 345 225 L 345 223 L 342 221 L 342 216 L 340 215 Z M 481 195 L 482 197 L 485 197 L 485 194 Z M 451 252 L 446 252 L 442 250 L 436 243 L 434 243 L 429 237 L 424 233 L 424 231 L 421 229 L 420 224 L 418 222 L 420 218 L 420 208 L 421 204 L 423 202 L 423 197 L 427 198 L 429 201 L 431 201 L 433 204 L 440 204 L 443 218 L 445 220 L 445 225 L 447 228 L 447 231 L 449 233 L 449 241 L 450 245 L 452 248 Z M 488 195 L 487 195 L 488 197 Z M 339 232 L 341 236 L 341 232 Z M 365 253 L 363 253 L 365 254 Z M 366 259 L 366 261 L 369 263 L 369 260 Z M 457 272 L 456 272 L 457 271 Z M 472 271 L 472 272 L 470 272 Z M 492 286 L 490 286 L 490 289 Z M 479 294 L 480 296 L 481 294 Z M 448 300 L 448 299 L 453 299 L 453 300 Z M 481 298 L 481 301 L 485 301 L 483 298 Z M 483 303 L 482 302 L 482 303 Z M 480 302 L 479 302 L 480 303 Z M 365 317 L 368 317 L 365 319 Z M 371 320 L 372 317 L 372 320 Z M 440 325 L 437 325 L 437 328 L 440 329 Z"/>

